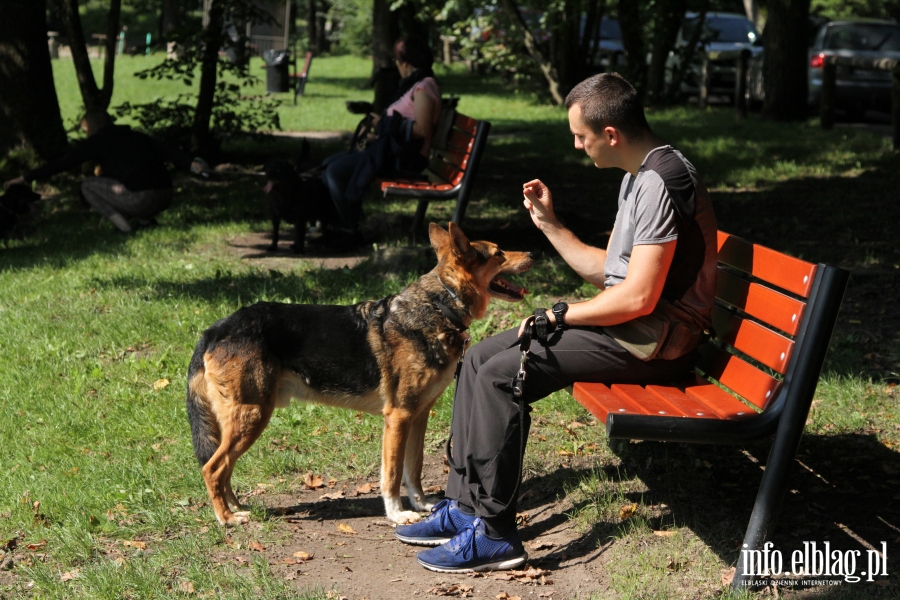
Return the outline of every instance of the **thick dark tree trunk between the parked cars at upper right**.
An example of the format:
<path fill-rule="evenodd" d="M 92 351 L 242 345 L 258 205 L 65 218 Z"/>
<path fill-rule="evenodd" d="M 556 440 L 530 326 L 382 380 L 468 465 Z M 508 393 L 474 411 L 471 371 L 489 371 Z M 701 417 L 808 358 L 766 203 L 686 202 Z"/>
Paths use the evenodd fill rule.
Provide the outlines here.
<path fill-rule="evenodd" d="M 806 35 L 810 0 L 769 0 L 766 21 L 763 114 L 802 121 L 809 114 Z"/>

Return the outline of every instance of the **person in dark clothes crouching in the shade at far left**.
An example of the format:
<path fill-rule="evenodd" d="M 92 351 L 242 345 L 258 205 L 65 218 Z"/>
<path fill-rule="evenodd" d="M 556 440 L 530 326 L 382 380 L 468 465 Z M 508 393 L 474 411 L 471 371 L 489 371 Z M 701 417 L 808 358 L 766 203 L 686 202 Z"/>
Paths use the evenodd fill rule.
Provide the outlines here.
<path fill-rule="evenodd" d="M 172 204 L 172 179 L 166 163 L 201 173 L 207 169 L 189 156 L 127 125 L 113 125 L 106 111 L 89 110 L 81 120 L 87 139 L 68 154 L 4 183 L 48 179 L 88 161 L 98 163 L 99 176 L 81 183 L 85 200 L 124 232 L 156 225 L 156 215 Z M 129 223 L 134 220 L 134 224 Z"/>

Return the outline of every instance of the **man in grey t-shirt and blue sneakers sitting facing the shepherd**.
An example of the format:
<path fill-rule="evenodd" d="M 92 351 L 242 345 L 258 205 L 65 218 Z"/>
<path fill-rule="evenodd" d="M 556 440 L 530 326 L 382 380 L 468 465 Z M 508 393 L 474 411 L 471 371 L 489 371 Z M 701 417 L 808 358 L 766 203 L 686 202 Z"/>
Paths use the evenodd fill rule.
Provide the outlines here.
<path fill-rule="evenodd" d="M 716 219 L 694 167 L 651 131 L 634 88 L 615 73 L 578 84 L 566 106 L 575 148 L 598 168 L 626 172 L 607 249 L 581 242 L 559 222 L 541 181 L 524 184 L 524 205 L 562 258 L 600 293 L 539 308 L 518 329 L 466 354 L 453 401 L 452 445 L 447 442 L 446 499 L 424 521 L 395 530 L 407 543 L 441 544 L 418 554 L 427 569 L 522 565 L 527 554 L 516 503 L 531 403 L 576 381 L 677 381 L 691 371 L 710 327 Z M 525 379 L 516 382 L 523 334 L 534 341 Z"/>

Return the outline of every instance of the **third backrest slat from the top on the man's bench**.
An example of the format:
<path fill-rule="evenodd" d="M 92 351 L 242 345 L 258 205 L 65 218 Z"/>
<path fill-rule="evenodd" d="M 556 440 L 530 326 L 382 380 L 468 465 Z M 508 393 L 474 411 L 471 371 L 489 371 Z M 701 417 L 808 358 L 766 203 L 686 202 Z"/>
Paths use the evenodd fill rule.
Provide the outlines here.
<path fill-rule="evenodd" d="M 794 351 L 793 340 L 720 306 L 713 307 L 712 322 L 720 340 L 784 375 Z"/>

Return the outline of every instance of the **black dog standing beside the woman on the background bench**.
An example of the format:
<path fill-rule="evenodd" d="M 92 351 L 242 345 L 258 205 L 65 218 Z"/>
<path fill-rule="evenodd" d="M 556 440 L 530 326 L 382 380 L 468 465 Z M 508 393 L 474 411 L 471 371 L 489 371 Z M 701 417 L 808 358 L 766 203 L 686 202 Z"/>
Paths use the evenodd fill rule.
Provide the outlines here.
<path fill-rule="evenodd" d="M 303 163 L 301 163 L 303 164 Z M 305 166 L 305 165 L 304 165 Z M 306 224 L 319 221 L 322 226 L 337 222 L 337 210 L 321 172 L 313 168 L 302 173 L 286 160 L 272 159 L 265 164 L 268 183 L 265 187 L 272 215 L 270 252 L 278 250 L 278 228 L 285 220 L 294 226 L 291 251 L 303 254 Z"/>

